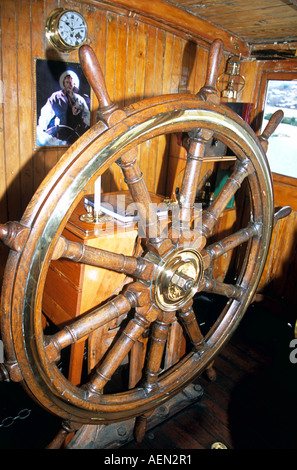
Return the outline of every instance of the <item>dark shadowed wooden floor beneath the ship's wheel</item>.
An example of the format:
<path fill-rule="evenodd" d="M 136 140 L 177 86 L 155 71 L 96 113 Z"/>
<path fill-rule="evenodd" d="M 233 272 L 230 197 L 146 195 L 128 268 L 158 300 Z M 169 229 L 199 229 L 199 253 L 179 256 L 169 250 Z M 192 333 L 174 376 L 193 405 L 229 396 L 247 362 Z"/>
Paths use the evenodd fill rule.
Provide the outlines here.
<path fill-rule="evenodd" d="M 289 361 L 293 330 L 285 316 L 250 307 L 215 361 L 216 381 L 196 380 L 203 387 L 201 400 L 149 430 L 142 443 L 121 449 L 211 449 L 215 442 L 232 450 L 296 449 L 297 364 Z M 0 383 L 0 448 L 45 448 L 60 420 L 18 390 L 18 384 Z"/>

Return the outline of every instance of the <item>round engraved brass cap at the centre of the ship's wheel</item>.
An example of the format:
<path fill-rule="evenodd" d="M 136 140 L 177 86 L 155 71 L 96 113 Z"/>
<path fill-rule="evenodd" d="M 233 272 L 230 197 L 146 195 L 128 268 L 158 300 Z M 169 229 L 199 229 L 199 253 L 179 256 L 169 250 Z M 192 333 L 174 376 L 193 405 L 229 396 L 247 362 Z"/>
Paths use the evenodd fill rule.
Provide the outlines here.
<path fill-rule="evenodd" d="M 180 249 L 159 264 L 154 282 L 155 302 L 161 310 L 181 308 L 197 291 L 203 260 L 193 249 Z"/>

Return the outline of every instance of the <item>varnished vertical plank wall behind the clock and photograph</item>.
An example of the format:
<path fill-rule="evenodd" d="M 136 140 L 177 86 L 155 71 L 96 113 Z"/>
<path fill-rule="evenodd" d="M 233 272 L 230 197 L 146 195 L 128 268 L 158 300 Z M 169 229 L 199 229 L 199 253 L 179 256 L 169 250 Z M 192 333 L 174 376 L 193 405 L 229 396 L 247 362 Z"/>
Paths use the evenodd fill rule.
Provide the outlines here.
<path fill-rule="evenodd" d="M 112 99 L 128 105 L 144 97 L 197 91 L 208 51 L 185 37 L 125 11 L 94 2 L 1 0 L 0 213 L 1 221 L 20 218 L 31 196 L 65 149 L 35 147 L 35 59 L 52 58 L 44 34 L 50 11 L 73 7 L 86 17 L 91 45 L 103 68 Z M 77 52 L 62 60 L 77 60 Z M 96 111 L 93 100 L 93 116 Z M 159 139 L 139 155 L 150 191 L 164 193 L 166 141 Z M 105 175 L 104 190 L 123 187 L 118 170 Z M 165 195 L 165 194 L 164 194 Z"/>

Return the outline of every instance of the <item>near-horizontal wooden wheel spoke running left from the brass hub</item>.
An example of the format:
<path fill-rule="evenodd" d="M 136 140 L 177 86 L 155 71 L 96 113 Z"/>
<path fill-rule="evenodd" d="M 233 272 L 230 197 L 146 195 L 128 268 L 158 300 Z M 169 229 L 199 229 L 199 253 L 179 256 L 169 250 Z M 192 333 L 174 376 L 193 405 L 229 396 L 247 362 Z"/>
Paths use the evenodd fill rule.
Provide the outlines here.
<path fill-rule="evenodd" d="M 81 242 L 69 241 L 62 236 L 58 240 L 52 259 L 59 258 L 67 258 L 78 263 L 111 269 L 142 280 L 149 280 L 155 269 L 154 264 L 144 258 L 125 256 L 86 246 Z"/>

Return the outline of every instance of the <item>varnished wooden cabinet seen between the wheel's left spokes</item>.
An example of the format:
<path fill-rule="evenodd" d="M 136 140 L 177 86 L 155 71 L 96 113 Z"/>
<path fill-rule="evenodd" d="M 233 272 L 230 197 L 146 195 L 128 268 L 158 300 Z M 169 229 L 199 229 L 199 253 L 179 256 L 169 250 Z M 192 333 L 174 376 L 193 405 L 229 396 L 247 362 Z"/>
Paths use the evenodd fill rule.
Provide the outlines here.
<path fill-rule="evenodd" d="M 112 196 L 106 199 L 110 201 L 111 198 Z M 109 232 L 108 228 L 102 231 L 102 225 L 96 226 L 80 221 L 80 216 L 84 213 L 85 209 L 82 200 L 75 208 L 68 226 L 63 232 L 70 242 L 81 242 L 87 247 L 105 249 L 113 253 L 133 254 L 137 236 L 137 231 L 134 230 L 133 224 L 126 227 L 125 236 L 121 237 L 118 233 L 121 231 L 121 228 L 117 229 L 115 227 L 116 223 L 112 224 L 112 232 Z M 62 327 L 69 320 L 91 310 L 96 305 L 102 304 L 124 282 L 127 282 L 125 274 L 88 264 L 76 263 L 67 259 L 55 260 L 51 263 L 46 278 L 42 307 L 43 314 L 53 324 Z M 90 370 L 96 364 L 96 359 L 101 357 L 101 349 L 96 346 L 95 339 L 97 338 L 98 340 L 98 334 L 102 335 L 102 332 L 105 332 L 105 330 L 106 328 L 101 328 L 99 332 L 90 335 L 88 338 Z M 115 331 L 114 329 L 112 338 L 115 335 Z M 81 381 L 85 340 L 86 338 L 82 338 L 81 341 L 71 347 L 68 377 L 74 384 L 79 384 Z M 105 338 L 104 344 L 106 344 L 106 341 Z M 99 343 L 101 344 L 100 341 Z"/>

